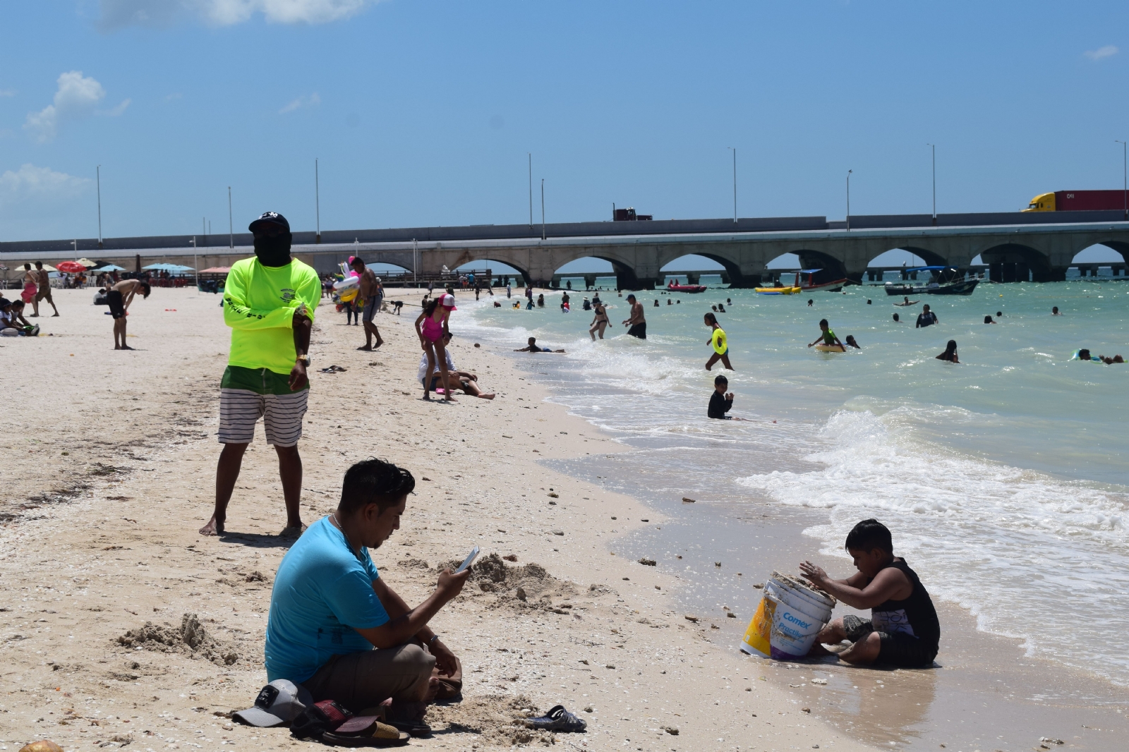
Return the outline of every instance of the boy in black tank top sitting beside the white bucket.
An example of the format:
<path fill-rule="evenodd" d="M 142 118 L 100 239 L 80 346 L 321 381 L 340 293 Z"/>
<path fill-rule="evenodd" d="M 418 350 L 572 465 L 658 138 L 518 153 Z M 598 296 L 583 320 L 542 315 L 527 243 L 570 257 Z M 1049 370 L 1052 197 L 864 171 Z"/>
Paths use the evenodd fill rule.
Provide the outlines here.
<path fill-rule="evenodd" d="M 877 519 L 864 519 L 847 535 L 847 553 L 858 574 L 831 579 L 811 561 L 799 565 L 804 576 L 825 593 L 855 609 L 870 609 L 870 621 L 847 615 L 824 627 L 808 655 L 829 655 L 823 644 L 839 645 L 846 639 L 851 646 L 839 657 L 848 663 L 933 664 L 940 642 L 937 611 L 917 572 L 893 550 L 890 530 Z"/>

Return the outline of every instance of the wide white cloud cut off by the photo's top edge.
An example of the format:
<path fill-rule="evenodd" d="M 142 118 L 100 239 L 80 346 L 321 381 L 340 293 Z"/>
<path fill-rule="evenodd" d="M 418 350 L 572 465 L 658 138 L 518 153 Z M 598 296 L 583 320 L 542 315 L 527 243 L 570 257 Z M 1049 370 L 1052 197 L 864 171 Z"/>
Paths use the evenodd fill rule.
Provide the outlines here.
<path fill-rule="evenodd" d="M 168 26 L 195 17 L 213 26 L 231 26 L 256 14 L 273 24 L 327 24 L 353 16 L 378 0 L 100 0 L 98 24 L 107 30 L 125 26 Z"/>

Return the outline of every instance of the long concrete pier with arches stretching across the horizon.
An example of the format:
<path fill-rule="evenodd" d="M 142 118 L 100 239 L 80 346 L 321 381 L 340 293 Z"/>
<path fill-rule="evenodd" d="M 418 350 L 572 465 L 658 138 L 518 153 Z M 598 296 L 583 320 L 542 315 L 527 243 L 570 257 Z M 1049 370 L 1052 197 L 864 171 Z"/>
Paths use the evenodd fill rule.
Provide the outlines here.
<path fill-rule="evenodd" d="M 851 217 L 849 228 L 824 217 L 785 217 L 335 230 L 321 238 L 295 233 L 294 252 L 320 272 L 350 255 L 429 276 L 444 266 L 493 261 L 533 281 L 552 280 L 564 264 L 593 256 L 611 262 L 620 287 L 645 289 L 663 279 L 663 266 L 686 254 L 720 263 L 734 287 L 751 287 L 768 273 L 769 262 L 786 253 L 798 255 L 804 266 L 863 281 L 870 260 L 893 248 L 959 269 L 979 255 L 996 281 L 1054 281 L 1065 279 L 1074 256 L 1092 245 L 1105 245 L 1129 261 L 1129 221 L 1122 212 L 939 215 L 936 224 L 929 215 L 864 216 Z M 108 238 L 102 248 L 89 238 L 0 243 L 0 262 L 9 269 L 84 255 L 130 270 L 190 257 L 196 262 L 190 265 L 205 268 L 230 265 L 252 253 L 247 233 Z"/>

